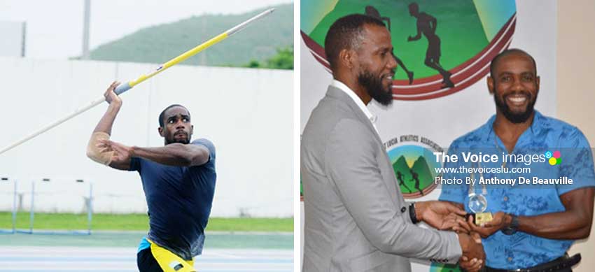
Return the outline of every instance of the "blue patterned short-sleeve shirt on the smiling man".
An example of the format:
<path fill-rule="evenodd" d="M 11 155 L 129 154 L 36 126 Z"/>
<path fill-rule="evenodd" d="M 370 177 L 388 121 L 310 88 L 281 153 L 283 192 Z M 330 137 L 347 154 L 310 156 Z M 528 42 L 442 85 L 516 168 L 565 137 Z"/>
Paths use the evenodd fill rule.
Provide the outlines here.
<path fill-rule="evenodd" d="M 513 215 L 542 215 L 564 211 L 560 195 L 582 187 L 595 187 L 595 171 L 591 149 L 587 139 L 576 127 L 560 120 L 545 117 L 535 111 L 535 117 L 529 127 L 519 137 L 514 150 L 509 154 L 502 141 L 493 131 L 492 116 L 486 124 L 457 138 L 450 146 L 448 153 L 458 155 L 458 162 L 445 162 L 444 169 L 468 167 L 475 169 L 491 169 L 490 173 L 444 173 L 442 178 L 465 180 L 500 180 L 500 184 L 485 185 L 487 210 L 496 213 L 503 211 Z M 546 154 L 549 151 L 551 153 Z M 548 155 L 557 152 L 554 165 L 549 163 Z M 462 153 L 496 154 L 498 162 L 470 163 L 463 160 Z M 509 156 L 503 163 L 503 156 Z M 546 157 L 547 156 L 547 157 Z M 512 157 L 516 159 L 512 159 Z M 552 162 L 553 163 L 553 162 Z M 523 170 L 524 169 L 524 170 Z M 515 173 L 511 173 L 514 171 Z M 530 173 L 527 173 L 530 171 Z M 469 172 L 469 171 L 468 171 Z M 533 179 L 538 179 L 533 183 Z M 515 180 L 511 185 L 506 180 Z M 519 180 L 529 184 L 519 184 Z M 545 180 L 547 184 L 540 184 Z M 572 180 L 572 184 L 568 183 Z M 482 185 L 470 186 L 462 184 L 442 185 L 440 200 L 462 203 L 468 207 L 468 194 L 483 192 Z M 573 241 L 552 240 L 517 231 L 516 234 L 505 235 L 496 231 L 488 238 L 482 239 L 486 252 L 486 265 L 496 269 L 522 269 L 536 266 L 561 257 Z"/>

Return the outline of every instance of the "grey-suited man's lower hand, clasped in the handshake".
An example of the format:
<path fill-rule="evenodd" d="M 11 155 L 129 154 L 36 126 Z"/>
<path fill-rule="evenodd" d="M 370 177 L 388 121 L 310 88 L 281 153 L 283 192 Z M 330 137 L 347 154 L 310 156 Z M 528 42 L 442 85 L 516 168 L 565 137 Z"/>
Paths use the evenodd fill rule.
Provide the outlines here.
<path fill-rule="evenodd" d="M 465 271 L 479 271 L 485 264 L 486 254 L 482 246 L 482 239 L 477 233 L 458 234 L 458 243 L 461 244 L 463 255 L 458 261 L 458 265 Z"/>

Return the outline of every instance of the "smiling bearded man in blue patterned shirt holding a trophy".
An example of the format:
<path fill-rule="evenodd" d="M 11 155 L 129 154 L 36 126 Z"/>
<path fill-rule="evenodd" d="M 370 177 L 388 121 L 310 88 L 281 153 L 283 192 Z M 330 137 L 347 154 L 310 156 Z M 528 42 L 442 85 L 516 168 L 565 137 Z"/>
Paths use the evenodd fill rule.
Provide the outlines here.
<path fill-rule="evenodd" d="M 442 178 L 463 182 L 443 185 L 440 200 L 471 213 L 470 194 L 485 197 L 485 212 L 493 220 L 469 223 L 482 236 L 487 271 L 541 271 L 548 266 L 571 271 L 566 250 L 574 240 L 589 236 L 593 218 L 595 173 L 589 143 L 576 127 L 533 110 L 539 77 L 528 53 L 501 52 L 491 62 L 487 83 L 496 115 L 451 144 L 449 155 L 458 160 L 445 160 L 444 169 L 458 173 Z M 465 162 L 467 152 L 498 159 Z"/>

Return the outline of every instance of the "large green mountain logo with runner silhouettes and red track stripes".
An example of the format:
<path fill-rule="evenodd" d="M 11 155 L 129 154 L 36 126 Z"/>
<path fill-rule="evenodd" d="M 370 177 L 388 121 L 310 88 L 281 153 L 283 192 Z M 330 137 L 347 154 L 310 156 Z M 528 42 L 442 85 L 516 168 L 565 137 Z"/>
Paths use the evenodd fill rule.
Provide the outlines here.
<path fill-rule="evenodd" d="M 395 100 L 435 99 L 477 83 L 510 45 L 517 22 L 514 0 L 319 0 L 300 8 L 302 40 L 327 71 L 323 45 L 333 22 L 353 13 L 383 21 L 398 64 Z"/>

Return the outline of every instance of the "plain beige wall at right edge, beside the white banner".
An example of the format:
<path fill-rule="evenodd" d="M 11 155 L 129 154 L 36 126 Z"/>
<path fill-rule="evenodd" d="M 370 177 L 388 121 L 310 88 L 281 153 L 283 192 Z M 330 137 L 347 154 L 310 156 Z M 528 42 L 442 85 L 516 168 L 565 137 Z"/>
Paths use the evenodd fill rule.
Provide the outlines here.
<path fill-rule="evenodd" d="M 595 2 L 590 0 L 558 1 L 558 36 L 556 50 L 556 108 L 561 120 L 580 128 L 595 146 L 595 93 L 591 78 L 595 70 Z M 584 27 L 590 26 L 590 27 Z M 595 218 L 593 220 L 595 226 Z M 582 261 L 576 272 L 593 271 L 595 267 L 595 227 L 587 239 L 577 241 L 570 254 L 580 252 Z"/>

